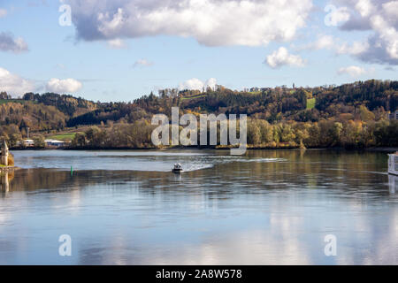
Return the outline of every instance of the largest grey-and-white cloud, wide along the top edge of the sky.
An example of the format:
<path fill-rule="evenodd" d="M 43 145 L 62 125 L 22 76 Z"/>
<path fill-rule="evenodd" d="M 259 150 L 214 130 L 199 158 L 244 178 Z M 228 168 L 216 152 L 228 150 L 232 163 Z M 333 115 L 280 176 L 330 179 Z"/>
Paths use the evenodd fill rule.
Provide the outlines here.
<path fill-rule="evenodd" d="M 305 27 L 312 0 L 70 0 L 77 36 L 87 41 L 158 34 L 207 46 L 287 42 Z"/>

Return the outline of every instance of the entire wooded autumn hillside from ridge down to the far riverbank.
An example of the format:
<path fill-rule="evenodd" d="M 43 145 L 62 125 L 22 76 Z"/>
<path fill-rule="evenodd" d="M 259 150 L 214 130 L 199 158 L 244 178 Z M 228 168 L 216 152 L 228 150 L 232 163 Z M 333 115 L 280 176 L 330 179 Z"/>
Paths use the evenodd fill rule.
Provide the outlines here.
<path fill-rule="evenodd" d="M 3 92 L 0 102 L 0 140 L 11 149 L 24 145 L 27 137 L 34 143 L 28 149 L 45 148 L 45 139 L 51 138 L 66 142 L 68 149 L 155 149 L 151 133 L 157 126 L 151 119 L 159 113 L 170 118 L 172 107 L 196 118 L 246 114 L 248 149 L 398 147 L 396 80 L 256 92 L 223 86 L 203 91 L 163 89 L 157 96 L 150 93 L 129 103 L 95 103 L 53 93 L 11 99 Z"/>

